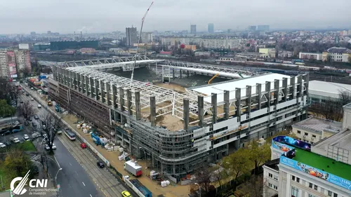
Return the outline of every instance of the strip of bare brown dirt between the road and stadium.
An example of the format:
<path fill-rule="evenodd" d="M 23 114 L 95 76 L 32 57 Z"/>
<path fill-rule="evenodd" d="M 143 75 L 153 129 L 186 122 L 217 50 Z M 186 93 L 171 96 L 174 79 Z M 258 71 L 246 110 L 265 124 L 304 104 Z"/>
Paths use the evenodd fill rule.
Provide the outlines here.
<path fill-rule="evenodd" d="M 84 137 L 85 140 L 93 144 L 93 140 L 91 139 L 91 136 L 88 133 L 83 133 L 81 130 L 77 129 L 77 125 L 74 123 L 77 123 L 78 118 L 76 116 L 73 116 L 71 114 L 66 115 L 63 117 L 63 120 L 65 120 L 69 125 L 72 126 L 72 128 L 75 128 L 79 134 Z M 107 151 L 106 149 L 103 149 L 102 147 L 98 146 L 95 147 L 102 156 L 104 156 L 108 161 L 110 161 L 111 165 L 117 169 L 118 172 L 120 172 L 122 175 L 129 175 L 128 172 L 124 170 L 123 164 L 124 161 L 119 161 L 118 156 L 121 154 L 119 151 Z M 143 160 L 138 160 L 139 165 L 143 166 L 143 176 L 138 177 L 138 179 L 144 186 L 147 187 L 152 192 L 152 196 L 159 196 L 159 195 L 164 195 L 165 197 L 187 197 L 188 193 L 190 193 L 189 186 L 181 186 L 180 184 L 174 184 L 171 183 L 170 185 L 166 187 L 161 187 L 157 182 L 152 181 L 150 178 L 148 178 L 146 175 L 150 175 L 150 171 L 152 170 L 151 168 L 145 169 L 145 166 L 150 166 L 151 161 L 143 161 Z M 165 178 L 166 180 L 166 178 Z"/>

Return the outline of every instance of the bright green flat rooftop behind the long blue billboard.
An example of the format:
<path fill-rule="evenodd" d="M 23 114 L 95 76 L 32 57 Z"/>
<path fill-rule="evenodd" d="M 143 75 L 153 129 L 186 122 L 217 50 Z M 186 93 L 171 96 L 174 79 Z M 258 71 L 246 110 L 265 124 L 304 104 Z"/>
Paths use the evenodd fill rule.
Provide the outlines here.
<path fill-rule="evenodd" d="M 297 148 L 295 149 L 295 157 L 293 160 L 318 168 L 319 170 L 324 170 L 338 177 L 351 180 L 351 165 L 346 163 L 341 163 L 340 161 L 335 161 L 331 158 L 326 158 L 319 154 Z"/>

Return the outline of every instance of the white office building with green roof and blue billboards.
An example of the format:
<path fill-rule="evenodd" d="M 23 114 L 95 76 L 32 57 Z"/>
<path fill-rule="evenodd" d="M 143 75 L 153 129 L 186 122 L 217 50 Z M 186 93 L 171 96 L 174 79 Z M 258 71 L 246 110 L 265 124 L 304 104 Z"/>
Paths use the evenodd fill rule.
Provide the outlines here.
<path fill-rule="evenodd" d="M 351 104 L 344 111 L 343 131 L 310 147 L 274 138 L 272 161 L 263 167 L 264 197 L 351 196 Z"/>

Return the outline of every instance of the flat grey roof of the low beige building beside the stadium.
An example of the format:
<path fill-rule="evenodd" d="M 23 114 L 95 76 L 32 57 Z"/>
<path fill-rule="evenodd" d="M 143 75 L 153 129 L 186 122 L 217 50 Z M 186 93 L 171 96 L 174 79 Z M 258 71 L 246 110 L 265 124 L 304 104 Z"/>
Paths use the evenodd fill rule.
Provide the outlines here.
<path fill-rule="evenodd" d="M 304 121 L 300 121 L 292 125 L 293 128 L 302 128 L 305 130 L 312 130 L 315 133 L 322 133 L 327 130 L 332 133 L 338 133 L 343 130 L 343 123 L 336 121 L 329 121 L 322 118 L 307 118 Z"/>

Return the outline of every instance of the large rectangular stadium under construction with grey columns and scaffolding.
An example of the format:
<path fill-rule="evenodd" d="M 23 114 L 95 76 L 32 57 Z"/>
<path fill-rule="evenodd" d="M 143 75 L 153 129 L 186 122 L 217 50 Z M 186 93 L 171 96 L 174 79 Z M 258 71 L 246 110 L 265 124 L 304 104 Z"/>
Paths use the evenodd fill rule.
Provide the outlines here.
<path fill-rule="evenodd" d="M 147 157 L 153 168 L 178 180 L 307 116 L 308 74 L 138 57 L 135 69 L 156 70 L 162 82 L 190 74 L 227 79 L 179 93 L 109 73 L 130 72 L 133 64 L 134 57 L 62 62 L 53 67 L 49 94 L 133 156 Z"/>

